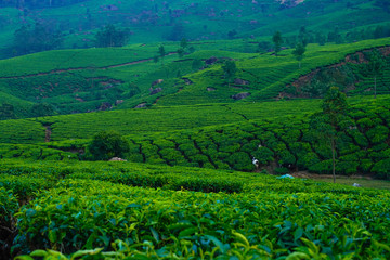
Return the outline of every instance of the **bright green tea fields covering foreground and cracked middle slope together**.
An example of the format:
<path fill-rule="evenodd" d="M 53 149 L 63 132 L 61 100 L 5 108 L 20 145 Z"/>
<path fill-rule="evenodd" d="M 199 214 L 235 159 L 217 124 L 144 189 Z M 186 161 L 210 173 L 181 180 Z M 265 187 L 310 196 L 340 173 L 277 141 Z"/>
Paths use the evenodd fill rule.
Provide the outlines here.
<path fill-rule="evenodd" d="M 330 171 L 329 147 L 308 121 L 320 102 L 2 121 L 9 143 L 0 152 L 1 257 L 388 259 L 388 191 L 266 174 Z M 338 174 L 389 179 L 389 102 L 349 99 L 352 125 L 340 135 Z M 18 134 L 24 126 L 39 134 Z M 58 141 L 43 143 L 43 126 Z M 56 135 L 66 129 L 77 139 Z M 102 129 L 127 134 L 127 159 L 135 162 L 79 161 Z"/>

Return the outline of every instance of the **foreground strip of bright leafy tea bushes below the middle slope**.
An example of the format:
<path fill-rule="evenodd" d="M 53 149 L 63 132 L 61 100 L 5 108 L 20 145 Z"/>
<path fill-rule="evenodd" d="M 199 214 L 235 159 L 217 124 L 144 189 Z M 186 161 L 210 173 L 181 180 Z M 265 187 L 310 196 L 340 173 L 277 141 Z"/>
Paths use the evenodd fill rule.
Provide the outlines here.
<path fill-rule="evenodd" d="M 17 259 L 390 256 L 385 191 L 129 162 L 2 160 L 1 169 L 1 242 L 14 237 L 14 253 L 51 249 Z"/>

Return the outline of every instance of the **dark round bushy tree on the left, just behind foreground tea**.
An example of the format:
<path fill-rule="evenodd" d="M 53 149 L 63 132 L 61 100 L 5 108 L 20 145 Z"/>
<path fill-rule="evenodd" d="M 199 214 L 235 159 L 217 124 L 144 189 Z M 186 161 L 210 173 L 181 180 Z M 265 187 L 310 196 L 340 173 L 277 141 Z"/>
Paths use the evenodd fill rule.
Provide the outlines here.
<path fill-rule="evenodd" d="M 93 136 L 88 146 L 95 160 L 108 160 L 113 157 L 123 157 L 130 151 L 129 142 L 117 131 L 102 131 Z"/>

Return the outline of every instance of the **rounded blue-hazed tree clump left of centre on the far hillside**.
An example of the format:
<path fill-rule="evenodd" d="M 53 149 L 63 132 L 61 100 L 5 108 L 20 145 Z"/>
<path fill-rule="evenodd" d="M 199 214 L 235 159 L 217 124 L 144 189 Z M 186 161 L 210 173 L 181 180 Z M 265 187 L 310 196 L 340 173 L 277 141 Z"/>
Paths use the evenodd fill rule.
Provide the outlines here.
<path fill-rule="evenodd" d="M 122 47 L 129 38 L 129 32 L 118 30 L 114 25 L 107 25 L 95 35 L 98 47 Z"/>

